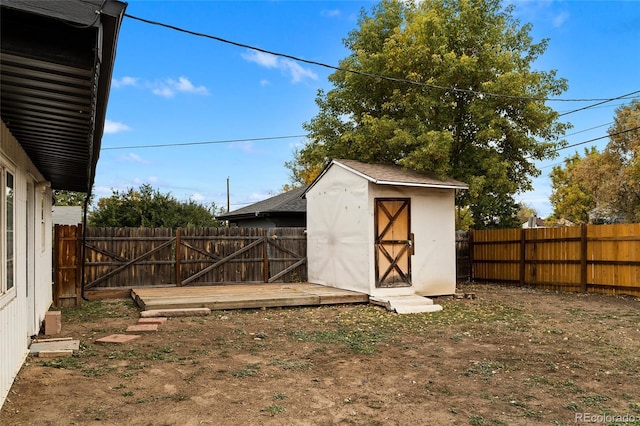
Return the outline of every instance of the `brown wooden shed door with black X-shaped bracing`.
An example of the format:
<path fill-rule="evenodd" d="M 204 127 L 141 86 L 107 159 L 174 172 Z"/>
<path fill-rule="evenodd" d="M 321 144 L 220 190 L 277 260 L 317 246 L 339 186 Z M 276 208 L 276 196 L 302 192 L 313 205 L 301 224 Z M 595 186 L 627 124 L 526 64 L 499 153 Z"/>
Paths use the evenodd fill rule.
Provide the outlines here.
<path fill-rule="evenodd" d="M 410 287 L 411 199 L 375 199 L 376 287 Z"/>

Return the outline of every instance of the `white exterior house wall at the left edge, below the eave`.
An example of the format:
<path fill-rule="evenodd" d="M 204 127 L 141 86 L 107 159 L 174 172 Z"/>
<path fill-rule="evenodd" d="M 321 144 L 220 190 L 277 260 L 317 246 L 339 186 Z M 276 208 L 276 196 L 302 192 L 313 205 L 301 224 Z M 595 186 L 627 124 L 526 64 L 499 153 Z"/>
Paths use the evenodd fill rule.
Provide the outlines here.
<path fill-rule="evenodd" d="M 0 121 L 0 155 L 15 172 L 15 286 L 0 295 L 0 406 L 22 367 L 30 336 L 52 302 L 51 189 Z M 38 229 L 33 229 L 39 225 Z M 32 232 L 28 231 L 30 227 Z"/>

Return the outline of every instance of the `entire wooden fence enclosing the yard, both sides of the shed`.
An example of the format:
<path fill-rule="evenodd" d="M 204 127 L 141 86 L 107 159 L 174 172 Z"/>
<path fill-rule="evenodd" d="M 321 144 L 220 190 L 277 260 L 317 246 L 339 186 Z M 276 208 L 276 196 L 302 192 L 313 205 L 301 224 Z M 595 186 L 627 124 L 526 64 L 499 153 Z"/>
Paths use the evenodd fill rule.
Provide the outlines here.
<path fill-rule="evenodd" d="M 307 279 L 304 228 L 88 227 L 83 237 L 82 226 L 56 226 L 54 239 L 56 306 L 135 287 Z M 640 224 L 458 232 L 456 258 L 459 282 L 640 296 Z"/>

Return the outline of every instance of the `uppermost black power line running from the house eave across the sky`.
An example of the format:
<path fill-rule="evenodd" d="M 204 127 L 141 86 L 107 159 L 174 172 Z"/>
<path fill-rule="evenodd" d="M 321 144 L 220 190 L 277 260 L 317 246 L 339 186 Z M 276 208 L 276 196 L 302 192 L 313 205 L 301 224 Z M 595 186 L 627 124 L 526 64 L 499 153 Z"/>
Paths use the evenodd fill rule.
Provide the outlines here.
<path fill-rule="evenodd" d="M 211 40 L 215 40 L 215 41 L 219 41 L 219 42 L 222 42 L 222 43 L 230 44 L 232 46 L 242 47 L 244 49 L 250 49 L 250 50 L 254 50 L 256 52 L 266 53 L 268 55 L 273 55 L 273 56 L 278 56 L 278 57 L 281 57 L 281 58 L 291 59 L 293 61 L 303 62 L 305 64 L 316 65 L 316 66 L 319 66 L 319 67 L 324 67 L 324 68 L 332 69 L 332 70 L 335 70 L 335 71 L 342 71 L 342 72 L 361 75 L 361 76 L 365 76 L 365 77 L 372 77 L 372 78 L 378 78 L 378 79 L 386 80 L 386 81 L 393 81 L 393 82 L 396 82 L 396 83 L 407 83 L 407 84 L 411 84 L 411 85 L 414 85 L 414 86 L 428 87 L 428 88 L 431 88 L 431 89 L 439 89 L 439 90 L 451 91 L 451 92 L 456 92 L 456 93 L 469 93 L 469 94 L 474 94 L 474 95 L 491 96 L 491 97 L 497 97 L 497 98 L 524 99 L 524 100 L 532 100 L 532 101 L 549 101 L 549 102 L 597 102 L 597 101 L 610 102 L 612 100 L 620 98 L 620 97 L 616 97 L 616 98 L 587 98 L 587 99 L 537 98 L 537 97 L 533 97 L 533 96 L 504 95 L 504 94 L 498 94 L 498 93 L 482 92 L 482 91 L 473 90 L 473 89 L 460 89 L 460 88 L 456 88 L 456 87 L 440 86 L 440 85 L 437 85 L 437 84 L 423 83 L 423 82 L 419 82 L 419 81 L 415 81 L 415 80 L 408 80 L 408 79 L 397 78 L 397 77 L 389 77 L 389 76 L 380 75 L 380 74 L 373 74 L 373 73 L 368 73 L 368 72 L 364 72 L 364 71 L 356 71 L 356 70 L 352 70 L 352 69 L 348 69 L 348 68 L 336 67 L 334 65 L 329 65 L 329 64 L 322 63 L 322 62 L 311 61 L 311 60 L 308 60 L 308 59 L 303 59 L 303 58 L 300 58 L 300 57 L 297 57 L 297 56 L 293 56 L 293 55 L 289 55 L 289 54 L 286 54 L 286 53 L 279 53 L 279 52 L 274 52 L 272 50 L 261 49 L 259 47 L 255 47 L 255 46 L 251 46 L 251 45 L 248 45 L 248 44 L 227 40 L 227 39 L 224 39 L 224 38 L 221 38 L 221 37 L 217 37 L 217 36 L 214 36 L 214 35 L 200 33 L 200 32 L 196 32 L 196 31 L 191 31 L 191 30 L 187 30 L 187 29 L 184 29 L 184 28 L 176 27 L 174 25 L 165 24 L 165 23 L 158 22 L 158 21 L 152 21 L 150 19 L 140 18 L 140 17 L 137 17 L 137 16 L 130 15 L 128 13 L 125 13 L 124 16 L 126 16 L 127 18 L 134 19 L 136 21 L 140 21 L 140 22 L 144 22 L 144 23 L 150 24 L 150 25 L 156 25 L 156 26 L 159 26 L 159 27 L 168 28 L 168 29 L 171 29 L 171 30 L 175 30 L 175 31 L 179 31 L 179 32 L 185 33 L 185 34 L 190 34 L 190 35 L 193 35 L 193 36 L 196 36 L 196 37 L 208 38 L 208 39 L 211 39 Z M 633 92 L 633 93 L 640 93 L 640 90 L 637 91 L 637 92 Z M 627 95 L 623 95 L 623 96 L 627 96 Z"/>

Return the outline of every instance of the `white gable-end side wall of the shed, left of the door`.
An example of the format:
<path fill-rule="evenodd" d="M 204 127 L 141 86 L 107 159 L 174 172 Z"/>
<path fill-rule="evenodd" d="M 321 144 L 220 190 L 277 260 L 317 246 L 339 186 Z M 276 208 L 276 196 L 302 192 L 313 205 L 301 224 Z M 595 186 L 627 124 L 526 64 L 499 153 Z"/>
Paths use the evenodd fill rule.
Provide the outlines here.
<path fill-rule="evenodd" d="M 309 282 L 369 293 L 373 213 L 368 181 L 331 167 L 307 192 Z"/>

